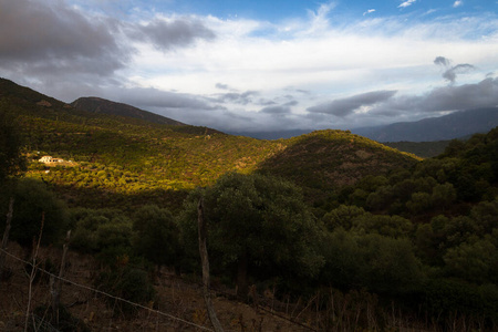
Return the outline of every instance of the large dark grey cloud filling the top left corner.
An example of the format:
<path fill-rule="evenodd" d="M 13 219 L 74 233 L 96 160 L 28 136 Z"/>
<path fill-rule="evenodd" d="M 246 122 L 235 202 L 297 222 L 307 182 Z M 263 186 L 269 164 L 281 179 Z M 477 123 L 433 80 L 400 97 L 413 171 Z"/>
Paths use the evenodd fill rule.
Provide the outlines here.
<path fill-rule="evenodd" d="M 63 1 L 0 0 L 0 66 L 110 74 L 129 55 L 113 37 L 118 28 L 111 19 L 90 21 Z"/>

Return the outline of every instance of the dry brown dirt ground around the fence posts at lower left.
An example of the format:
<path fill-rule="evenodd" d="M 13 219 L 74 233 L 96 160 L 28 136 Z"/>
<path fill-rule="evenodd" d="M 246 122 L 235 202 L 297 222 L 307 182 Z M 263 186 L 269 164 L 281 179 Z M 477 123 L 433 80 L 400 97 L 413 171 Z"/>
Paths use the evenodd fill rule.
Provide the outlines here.
<path fill-rule="evenodd" d="M 25 258 L 27 252 L 15 246 L 9 246 L 8 251 L 18 258 Z M 51 248 L 43 248 L 39 252 L 40 261 L 48 258 L 59 267 L 61 252 Z M 77 318 L 91 331 L 210 331 L 212 330 L 203 298 L 201 287 L 198 283 L 176 277 L 173 272 L 162 271 L 156 280 L 156 301 L 145 304 L 147 309 L 138 309 L 134 318 L 124 318 L 115 314 L 113 308 L 106 304 L 105 295 L 92 290 L 92 280 L 96 276 L 97 267 L 90 256 L 75 252 L 68 253 L 68 268 L 64 278 L 73 283 L 64 282 L 62 286 L 61 303 L 63 303 L 74 318 Z M 27 325 L 28 305 L 30 313 L 41 305 L 48 307 L 51 301 L 50 277 L 42 276 L 31 283 L 30 272 L 25 263 L 12 257 L 6 258 L 9 274 L 3 276 L 0 282 L 0 331 L 24 331 Z M 43 268 L 42 266 L 40 266 Z M 59 270 L 59 268 L 58 268 Z M 42 273 L 43 274 L 43 273 Z M 212 302 L 218 319 L 225 331 L 313 331 L 305 328 L 304 312 L 292 309 L 292 314 L 299 324 L 290 320 L 290 310 L 274 311 L 269 301 L 271 294 L 264 298 L 266 305 L 250 305 L 229 300 L 226 294 L 212 293 Z M 31 303 L 28 304 L 29 299 Z M 108 300 L 108 299 L 107 299 Z M 113 300 L 117 301 L 117 300 Z M 107 301 L 108 303 L 108 301 Z M 276 308 L 276 305 L 273 305 Z M 282 303 L 280 303 L 282 308 Z M 160 313 L 158 313 L 158 312 Z M 51 325 L 43 325 L 45 312 L 29 315 L 28 325 L 40 331 L 58 331 Z M 41 328 L 44 329 L 41 329 Z M 68 331 L 77 331 L 76 323 Z M 29 331 L 33 331 L 30 328 Z"/>

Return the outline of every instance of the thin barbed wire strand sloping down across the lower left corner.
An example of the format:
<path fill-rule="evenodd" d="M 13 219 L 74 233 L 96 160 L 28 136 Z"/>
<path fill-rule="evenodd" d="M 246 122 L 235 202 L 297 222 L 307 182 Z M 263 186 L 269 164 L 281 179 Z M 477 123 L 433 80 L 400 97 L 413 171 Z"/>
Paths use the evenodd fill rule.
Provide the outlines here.
<path fill-rule="evenodd" d="M 11 257 L 11 258 L 13 258 L 13 259 L 20 261 L 20 262 L 23 262 L 24 264 L 29 264 L 29 266 L 33 267 L 33 268 L 37 269 L 38 271 L 41 271 L 41 272 L 43 272 L 43 273 L 46 273 L 46 274 L 49 274 L 50 277 L 56 278 L 56 279 L 59 279 L 59 280 L 61 280 L 61 281 L 71 283 L 71 284 L 73 284 L 73 286 L 75 286 L 75 287 L 79 287 L 79 288 L 82 288 L 82 289 L 90 290 L 90 291 L 92 291 L 92 292 L 102 294 L 102 295 L 104 295 L 104 297 L 107 297 L 107 298 L 111 298 L 111 299 L 114 299 L 114 300 L 117 300 L 117 301 L 125 302 L 125 303 L 127 303 L 127 304 L 132 304 L 132 305 L 134 305 L 134 307 L 136 307 L 136 308 L 145 309 L 145 310 L 147 310 L 147 311 L 149 311 L 149 312 L 153 312 L 153 313 L 156 313 L 156 314 L 166 317 L 166 318 L 168 318 L 168 319 L 172 319 L 172 320 L 175 320 L 175 321 L 178 321 L 178 322 L 188 324 L 188 325 L 190 325 L 190 326 L 194 326 L 194 328 L 197 328 L 197 329 L 200 329 L 200 330 L 204 330 L 204 331 L 214 331 L 212 329 L 209 329 L 209 328 L 206 328 L 206 326 L 196 324 L 196 323 L 194 323 L 194 322 L 189 322 L 189 321 L 187 321 L 187 320 L 184 320 L 184 319 L 181 319 L 181 318 L 175 317 L 175 315 L 169 314 L 169 313 L 167 313 L 167 312 L 163 312 L 163 311 L 159 311 L 159 310 L 155 310 L 155 309 L 145 307 L 145 305 L 143 305 L 143 304 L 135 303 L 135 302 L 128 301 L 128 300 L 126 300 L 126 299 L 123 299 L 123 298 L 120 298 L 120 297 L 112 295 L 112 294 L 110 294 L 110 293 L 107 293 L 107 292 L 104 292 L 104 291 L 101 291 L 101 290 L 91 288 L 91 287 L 85 286 L 85 284 L 81 284 L 81 283 L 77 283 L 77 282 L 74 282 L 74 281 L 69 280 L 69 279 L 65 279 L 65 278 L 60 278 L 59 276 L 55 276 L 55 274 L 53 274 L 52 272 L 46 271 L 45 269 L 42 269 L 42 268 L 40 268 L 40 267 L 33 266 L 32 262 L 27 261 L 27 260 L 24 260 L 24 259 L 22 259 L 22 258 L 20 258 L 20 257 L 17 257 L 17 256 L 10 253 L 9 251 L 7 251 L 7 250 L 4 250 L 4 249 L 2 249 L 2 248 L 0 248 L 0 251 L 3 252 L 3 253 L 6 253 L 7 256 L 9 256 L 9 257 Z"/>

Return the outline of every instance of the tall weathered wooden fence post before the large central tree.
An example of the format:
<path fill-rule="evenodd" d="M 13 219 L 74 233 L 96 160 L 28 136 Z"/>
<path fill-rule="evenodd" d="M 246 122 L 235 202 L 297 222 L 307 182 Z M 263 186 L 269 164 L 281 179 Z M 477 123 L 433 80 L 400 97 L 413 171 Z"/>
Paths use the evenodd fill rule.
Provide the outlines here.
<path fill-rule="evenodd" d="M 209 294 L 209 258 L 207 253 L 206 246 L 206 222 L 204 220 L 204 204 L 203 197 L 199 198 L 199 204 L 197 205 L 197 224 L 199 228 L 199 253 L 200 261 L 203 262 L 203 291 L 204 291 L 204 301 L 206 302 L 207 312 L 209 315 L 209 320 L 211 321 L 212 328 L 216 332 L 224 332 L 221 324 L 219 323 L 218 318 L 216 317 L 215 308 L 212 307 L 211 297 Z"/>

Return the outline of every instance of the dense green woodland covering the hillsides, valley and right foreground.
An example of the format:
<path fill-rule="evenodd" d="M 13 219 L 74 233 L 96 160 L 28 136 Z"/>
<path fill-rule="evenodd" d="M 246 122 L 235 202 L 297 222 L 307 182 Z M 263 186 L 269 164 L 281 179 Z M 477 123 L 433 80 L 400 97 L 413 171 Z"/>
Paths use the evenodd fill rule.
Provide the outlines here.
<path fill-rule="evenodd" d="M 203 200 L 211 274 L 239 301 L 314 299 L 318 331 L 498 329 L 498 128 L 422 159 L 349 132 L 258 141 L 2 84 L 10 240 L 29 251 L 41 216 L 41 246 L 71 229 L 100 290 L 149 303 L 160 268 L 198 278 Z"/>

